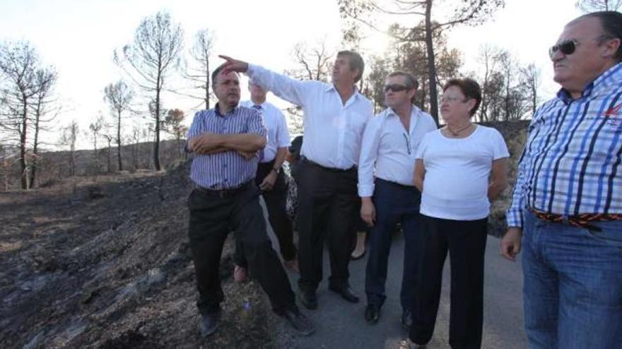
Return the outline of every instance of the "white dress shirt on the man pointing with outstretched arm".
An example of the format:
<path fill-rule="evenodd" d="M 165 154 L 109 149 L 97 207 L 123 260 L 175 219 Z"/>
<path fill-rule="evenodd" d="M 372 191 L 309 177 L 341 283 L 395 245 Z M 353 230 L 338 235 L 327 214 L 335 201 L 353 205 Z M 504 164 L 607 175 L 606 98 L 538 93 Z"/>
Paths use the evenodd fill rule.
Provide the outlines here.
<path fill-rule="evenodd" d="M 334 85 L 295 80 L 252 64 L 247 74 L 266 90 L 303 107 L 304 157 L 333 169 L 349 169 L 358 164 L 363 130 L 372 118 L 372 104 L 363 94 L 356 90 L 343 104 Z"/>

